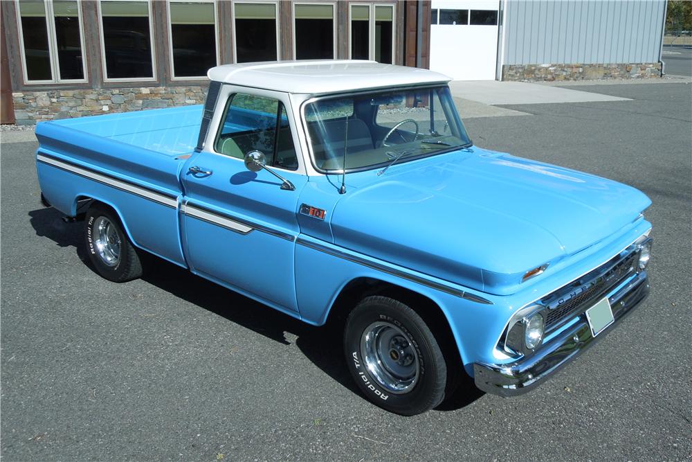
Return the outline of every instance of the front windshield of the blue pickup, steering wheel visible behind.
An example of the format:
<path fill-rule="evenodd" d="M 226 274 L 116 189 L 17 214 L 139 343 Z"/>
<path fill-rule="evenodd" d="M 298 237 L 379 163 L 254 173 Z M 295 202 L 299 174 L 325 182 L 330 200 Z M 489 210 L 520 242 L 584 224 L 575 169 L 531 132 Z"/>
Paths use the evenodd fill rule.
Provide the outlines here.
<path fill-rule="evenodd" d="M 343 171 L 344 157 L 347 171 L 366 170 L 471 144 L 446 86 L 323 98 L 304 116 L 322 172 Z"/>

